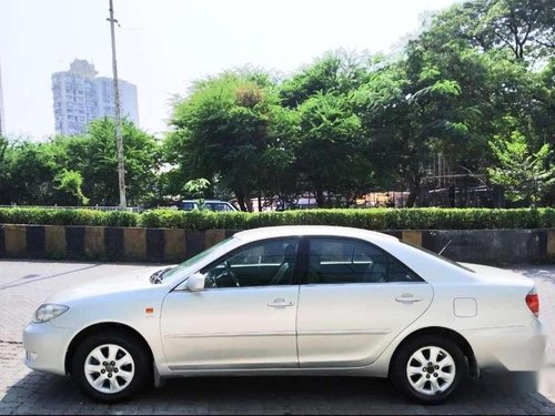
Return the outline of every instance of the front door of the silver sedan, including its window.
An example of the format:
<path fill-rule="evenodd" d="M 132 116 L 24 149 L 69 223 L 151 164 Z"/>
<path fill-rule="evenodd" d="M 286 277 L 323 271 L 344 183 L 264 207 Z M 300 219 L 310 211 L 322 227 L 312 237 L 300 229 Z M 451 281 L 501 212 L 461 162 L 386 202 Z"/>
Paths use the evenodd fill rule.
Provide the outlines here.
<path fill-rule="evenodd" d="M 169 367 L 297 367 L 297 239 L 251 243 L 204 267 L 203 291 L 168 294 L 161 336 Z"/>

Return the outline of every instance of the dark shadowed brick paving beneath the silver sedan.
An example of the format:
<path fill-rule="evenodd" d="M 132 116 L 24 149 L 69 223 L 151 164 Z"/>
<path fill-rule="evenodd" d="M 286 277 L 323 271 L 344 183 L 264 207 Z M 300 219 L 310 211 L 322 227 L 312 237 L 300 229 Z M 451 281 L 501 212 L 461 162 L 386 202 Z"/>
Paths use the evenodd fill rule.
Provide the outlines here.
<path fill-rule="evenodd" d="M 491 373 L 467 379 L 448 403 L 422 406 L 386 379 L 363 377 L 198 377 L 169 379 L 115 405 L 98 404 L 65 377 L 32 372 L 8 388 L 0 413 L 74 414 L 538 414 L 555 404 L 533 374 Z"/>

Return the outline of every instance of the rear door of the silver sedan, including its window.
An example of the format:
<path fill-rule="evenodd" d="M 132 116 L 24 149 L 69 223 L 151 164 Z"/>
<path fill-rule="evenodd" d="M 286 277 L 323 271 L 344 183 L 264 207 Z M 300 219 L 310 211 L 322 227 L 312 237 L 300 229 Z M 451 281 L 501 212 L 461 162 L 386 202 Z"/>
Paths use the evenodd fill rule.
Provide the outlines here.
<path fill-rule="evenodd" d="M 310 237 L 306 245 L 297 317 L 301 367 L 369 365 L 432 302 L 431 285 L 369 242 Z"/>

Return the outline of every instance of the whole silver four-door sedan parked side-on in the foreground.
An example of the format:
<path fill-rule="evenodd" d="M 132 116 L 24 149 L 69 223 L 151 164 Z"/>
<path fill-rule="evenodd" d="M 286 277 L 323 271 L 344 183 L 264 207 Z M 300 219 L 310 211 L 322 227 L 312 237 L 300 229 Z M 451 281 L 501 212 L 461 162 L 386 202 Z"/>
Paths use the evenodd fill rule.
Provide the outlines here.
<path fill-rule="evenodd" d="M 23 344 L 30 368 L 104 402 L 165 377 L 362 375 L 436 404 L 484 367 L 538 369 L 538 308 L 507 271 L 372 231 L 282 226 L 56 294 Z"/>

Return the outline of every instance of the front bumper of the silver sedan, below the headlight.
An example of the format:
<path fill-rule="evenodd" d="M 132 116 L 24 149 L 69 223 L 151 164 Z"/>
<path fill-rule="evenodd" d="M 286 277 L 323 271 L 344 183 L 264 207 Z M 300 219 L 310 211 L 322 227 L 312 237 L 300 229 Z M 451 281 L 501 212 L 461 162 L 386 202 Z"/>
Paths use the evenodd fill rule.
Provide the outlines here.
<path fill-rule="evenodd" d="M 30 323 L 23 331 L 26 365 L 39 372 L 65 375 L 65 352 L 71 332 L 43 324 Z"/>

